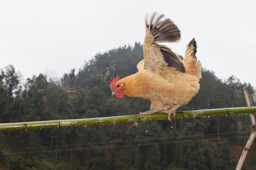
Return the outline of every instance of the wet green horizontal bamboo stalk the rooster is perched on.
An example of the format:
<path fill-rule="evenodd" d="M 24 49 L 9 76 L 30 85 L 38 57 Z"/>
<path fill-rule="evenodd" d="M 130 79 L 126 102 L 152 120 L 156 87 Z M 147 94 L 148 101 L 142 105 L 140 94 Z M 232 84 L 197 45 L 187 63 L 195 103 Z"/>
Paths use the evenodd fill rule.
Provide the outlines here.
<path fill-rule="evenodd" d="M 228 115 L 235 115 L 235 114 L 250 114 L 250 113 L 256 113 L 256 107 L 177 111 L 175 117 L 171 115 L 171 119 L 186 119 L 186 118 L 210 117 L 210 116 L 221 116 L 221 115 L 228 116 Z M 155 120 L 168 120 L 168 114 L 154 113 L 154 114 L 148 114 L 148 115 L 138 114 L 138 115 L 127 115 L 127 116 L 113 116 L 113 117 L 105 117 L 105 118 L 0 123 L 0 131 L 59 128 L 59 127 L 78 127 L 78 126 L 85 127 L 85 126 L 130 123 L 130 122 L 141 122 L 141 121 L 155 121 Z"/>

